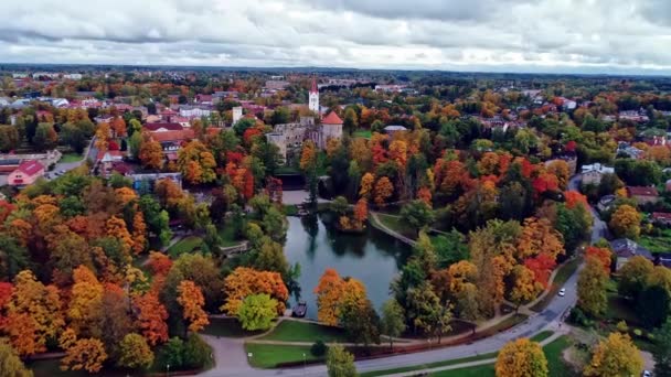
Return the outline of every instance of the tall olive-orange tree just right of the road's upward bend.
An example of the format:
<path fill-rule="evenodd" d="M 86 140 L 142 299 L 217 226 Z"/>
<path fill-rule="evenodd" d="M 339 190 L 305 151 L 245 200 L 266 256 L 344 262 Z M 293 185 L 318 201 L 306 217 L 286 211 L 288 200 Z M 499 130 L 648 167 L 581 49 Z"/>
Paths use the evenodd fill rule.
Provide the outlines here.
<path fill-rule="evenodd" d="M 601 261 L 595 257 L 585 260 L 585 267 L 578 274 L 578 308 L 585 313 L 598 316 L 607 306 L 608 272 Z"/>

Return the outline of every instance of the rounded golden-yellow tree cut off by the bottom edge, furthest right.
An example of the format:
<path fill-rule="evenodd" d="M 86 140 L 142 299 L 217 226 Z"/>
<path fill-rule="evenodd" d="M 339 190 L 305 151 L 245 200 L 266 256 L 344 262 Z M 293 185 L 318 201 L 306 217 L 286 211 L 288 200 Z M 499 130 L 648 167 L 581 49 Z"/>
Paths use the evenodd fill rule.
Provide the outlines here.
<path fill-rule="evenodd" d="M 629 335 L 616 332 L 596 345 L 584 375 L 640 376 L 642 370 L 643 357 L 640 351 L 633 345 Z"/>

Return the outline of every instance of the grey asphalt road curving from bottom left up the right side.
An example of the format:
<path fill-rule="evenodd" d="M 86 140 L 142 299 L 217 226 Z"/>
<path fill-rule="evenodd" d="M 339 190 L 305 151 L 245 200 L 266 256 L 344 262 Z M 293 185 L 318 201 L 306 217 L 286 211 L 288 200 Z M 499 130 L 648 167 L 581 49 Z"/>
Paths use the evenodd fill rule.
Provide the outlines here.
<path fill-rule="evenodd" d="M 578 190 L 581 175 L 574 175 L 569 182 L 569 190 Z M 592 229 L 592 243 L 596 243 L 605 234 L 607 227 L 604 222 L 598 217 L 598 214 L 594 208 L 592 209 L 592 216 L 594 217 L 594 225 Z M 371 371 L 371 370 L 385 370 L 393 369 L 400 367 L 407 367 L 413 365 L 422 365 L 435 362 L 443 362 L 449 359 L 457 359 L 469 357 L 478 354 L 488 354 L 492 352 L 499 351 L 505 343 L 519 338 L 519 337 L 530 337 L 553 322 L 561 320 L 561 316 L 572 308 L 577 300 L 576 297 L 576 282 L 577 282 L 577 273 L 574 273 L 564 287 L 566 288 L 566 295 L 563 298 L 556 297 L 545 310 L 539 314 L 530 316 L 524 323 L 521 323 L 508 331 L 499 333 L 498 335 L 483 338 L 471 344 L 465 344 L 454 347 L 446 347 L 433 351 L 425 351 L 405 355 L 396 355 L 388 356 L 382 358 L 374 358 L 368 360 L 356 362 L 356 370 L 358 371 Z M 226 351 L 233 352 L 235 347 L 241 346 L 239 341 L 230 341 L 230 340 L 216 340 L 213 344 L 216 349 L 216 358 L 220 360 L 217 366 L 209 370 L 203 376 L 326 376 L 327 368 L 324 365 L 313 365 L 306 368 L 290 368 L 290 369 L 271 369 L 271 370 L 262 370 L 254 369 L 251 367 L 239 368 L 239 364 L 237 364 L 238 368 L 226 368 L 226 362 L 222 363 L 222 358 L 225 357 Z M 239 354 L 236 355 L 239 357 Z M 244 356 L 243 356 L 244 357 Z M 252 356 L 254 357 L 254 355 Z M 238 362 L 239 363 L 239 362 Z"/>

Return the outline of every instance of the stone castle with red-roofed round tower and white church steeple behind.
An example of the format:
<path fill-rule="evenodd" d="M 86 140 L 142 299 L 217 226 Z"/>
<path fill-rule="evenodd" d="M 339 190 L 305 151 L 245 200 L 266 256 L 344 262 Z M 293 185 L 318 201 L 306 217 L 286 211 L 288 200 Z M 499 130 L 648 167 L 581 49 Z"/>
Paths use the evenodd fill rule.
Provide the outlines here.
<path fill-rule="evenodd" d="M 312 87 L 308 97 L 308 108 L 321 118 L 319 111 L 319 89 L 317 80 L 312 79 Z M 321 125 L 315 122 L 315 117 L 300 117 L 298 122 L 276 125 L 266 139 L 279 148 L 279 154 L 287 161 L 288 153 L 299 151 L 305 140 L 312 140 L 320 149 L 326 149 L 329 139 L 342 138 L 342 119 L 331 111 Z"/>

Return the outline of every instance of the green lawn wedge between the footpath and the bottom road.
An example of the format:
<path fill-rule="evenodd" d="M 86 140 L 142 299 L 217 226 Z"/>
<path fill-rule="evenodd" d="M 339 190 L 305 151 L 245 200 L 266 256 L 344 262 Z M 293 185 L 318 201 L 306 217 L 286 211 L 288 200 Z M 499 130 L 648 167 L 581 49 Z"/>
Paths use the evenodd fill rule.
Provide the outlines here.
<path fill-rule="evenodd" d="M 284 363 L 320 360 L 310 353 L 310 346 L 245 343 L 245 352 L 252 354 L 249 365 L 255 368 L 275 368 Z"/>

